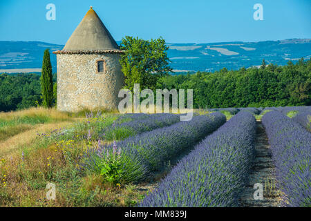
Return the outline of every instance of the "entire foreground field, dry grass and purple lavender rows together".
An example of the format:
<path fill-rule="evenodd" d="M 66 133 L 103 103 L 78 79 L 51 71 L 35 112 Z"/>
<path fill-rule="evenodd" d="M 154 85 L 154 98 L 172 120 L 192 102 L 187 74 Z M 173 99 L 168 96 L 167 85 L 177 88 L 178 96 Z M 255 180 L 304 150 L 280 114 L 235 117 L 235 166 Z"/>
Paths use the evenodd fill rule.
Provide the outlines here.
<path fill-rule="evenodd" d="M 310 106 L 0 113 L 0 206 L 311 206 L 310 122 Z"/>

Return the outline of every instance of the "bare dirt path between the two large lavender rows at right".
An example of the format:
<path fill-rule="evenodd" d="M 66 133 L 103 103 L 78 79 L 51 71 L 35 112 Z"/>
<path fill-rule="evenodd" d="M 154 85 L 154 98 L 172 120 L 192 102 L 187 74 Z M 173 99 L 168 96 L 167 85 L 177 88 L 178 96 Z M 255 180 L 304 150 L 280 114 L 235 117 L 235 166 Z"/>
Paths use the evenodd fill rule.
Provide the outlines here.
<path fill-rule="evenodd" d="M 267 140 L 265 128 L 257 122 L 255 140 L 255 160 L 249 175 L 245 191 L 241 195 L 243 207 L 280 207 L 281 193 L 276 187 L 274 177 L 275 166 L 272 162 L 270 145 Z M 263 184 L 263 200 L 254 200 L 254 184 Z"/>

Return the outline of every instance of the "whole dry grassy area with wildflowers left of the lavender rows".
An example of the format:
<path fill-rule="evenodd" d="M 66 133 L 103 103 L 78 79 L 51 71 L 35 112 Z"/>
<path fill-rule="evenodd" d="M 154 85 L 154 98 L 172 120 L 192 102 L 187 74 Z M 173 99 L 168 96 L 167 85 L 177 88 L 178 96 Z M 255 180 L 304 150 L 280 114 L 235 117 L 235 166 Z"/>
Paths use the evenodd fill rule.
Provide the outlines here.
<path fill-rule="evenodd" d="M 67 138 L 46 140 L 51 131 L 71 125 L 78 134 L 87 133 L 86 122 L 73 124 L 82 120 L 79 115 L 85 119 L 84 112 L 44 108 L 0 114 L 0 128 L 6 136 L 0 142 L 0 206 L 129 206 L 140 200 L 144 191 L 135 187 L 111 186 L 99 175 L 80 174 L 78 156 L 84 151 L 85 140 L 73 139 L 66 144 L 72 147 L 67 150 L 60 148 Z M 20 120 L 24 117 L 34 124 L 25 124 Z M 40 118 L 48 120 L 37 123 Z M 113 119 L 109 117 L 109 124 Z M 38 133 L 47 136 L 38 137 Z M 47 182 L 56 184 L 57 200 L 46 200 Z"/>

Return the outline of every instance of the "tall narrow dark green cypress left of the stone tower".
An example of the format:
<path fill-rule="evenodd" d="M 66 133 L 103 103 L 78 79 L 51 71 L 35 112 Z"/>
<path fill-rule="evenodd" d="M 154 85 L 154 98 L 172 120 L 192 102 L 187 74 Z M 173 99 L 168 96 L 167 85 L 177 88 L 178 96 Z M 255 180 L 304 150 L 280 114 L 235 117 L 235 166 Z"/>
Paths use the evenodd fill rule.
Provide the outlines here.
<path fill-rule="evenodd" d="M 52 107 L 53 104 L 53 75 L 52 64 L 50 64 L 49 49 L 44 51 L 44 59 L 41 71 L 41 93 L 43 97 L 43 106 Z"/>

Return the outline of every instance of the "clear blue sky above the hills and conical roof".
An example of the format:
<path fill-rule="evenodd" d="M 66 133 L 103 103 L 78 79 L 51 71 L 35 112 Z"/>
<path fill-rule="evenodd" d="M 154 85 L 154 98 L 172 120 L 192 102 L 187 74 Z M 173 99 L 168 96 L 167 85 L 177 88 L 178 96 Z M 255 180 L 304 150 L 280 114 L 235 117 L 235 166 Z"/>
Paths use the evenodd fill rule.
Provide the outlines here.
<path fill-rule="evenodd" d="M 46 6 L 55 5 L 55 20 Z M 254 5 L 263 6 L 255 20 Z M 0 0 L 0 41 L 66 44 L 93 6 L 114 39 L 171 43 L 311 38 L 310 0 Z"/>

